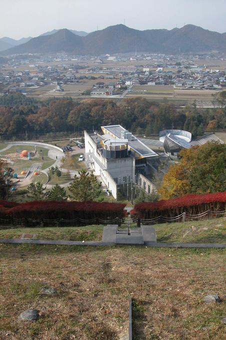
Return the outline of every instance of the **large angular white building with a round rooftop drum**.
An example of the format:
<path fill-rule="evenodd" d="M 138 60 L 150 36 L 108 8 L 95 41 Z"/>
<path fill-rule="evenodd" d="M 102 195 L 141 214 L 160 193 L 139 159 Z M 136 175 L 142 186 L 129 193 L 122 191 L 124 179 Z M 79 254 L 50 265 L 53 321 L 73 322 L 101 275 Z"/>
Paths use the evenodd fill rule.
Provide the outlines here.
<path fill-rule="evenodd" d="M 136 172 L 144 174 L 147 161 L 158 155 L 120 125 L 101 129 L 102 135 L 84 132 L 85 162 L 117 199 L 118 185 L 135 183 Z"/>

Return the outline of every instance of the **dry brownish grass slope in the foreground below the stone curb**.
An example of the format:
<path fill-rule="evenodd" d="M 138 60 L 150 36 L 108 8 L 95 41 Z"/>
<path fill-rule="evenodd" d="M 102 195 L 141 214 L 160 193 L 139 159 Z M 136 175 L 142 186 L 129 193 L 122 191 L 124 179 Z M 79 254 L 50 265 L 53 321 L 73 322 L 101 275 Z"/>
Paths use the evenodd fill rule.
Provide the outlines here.
<path fill-rule="evenodd" d="M 134 339 L 222 340 L 221 249 L 1 244 L 0 338 L 117 340 L 135 300 Z M 41 287 L 57 295 L 39 295 Z M 218 293 L 221 303 L 202 298 Z M 17 319 L 37 308 L 38 321 Z"/>

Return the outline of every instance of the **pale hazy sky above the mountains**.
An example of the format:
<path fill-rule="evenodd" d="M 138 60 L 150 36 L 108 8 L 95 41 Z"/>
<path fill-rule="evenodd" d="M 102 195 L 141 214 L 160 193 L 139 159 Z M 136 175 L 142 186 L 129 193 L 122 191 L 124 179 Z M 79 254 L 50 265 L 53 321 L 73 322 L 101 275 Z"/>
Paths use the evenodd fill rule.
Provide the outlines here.
<path fill-rule="evenodd" d="M 226 32 L 225 0 L 0 0 L 0 37 L 53 29 L 92 32 L 123 24 L 138 30 L 193 24 Z"/>

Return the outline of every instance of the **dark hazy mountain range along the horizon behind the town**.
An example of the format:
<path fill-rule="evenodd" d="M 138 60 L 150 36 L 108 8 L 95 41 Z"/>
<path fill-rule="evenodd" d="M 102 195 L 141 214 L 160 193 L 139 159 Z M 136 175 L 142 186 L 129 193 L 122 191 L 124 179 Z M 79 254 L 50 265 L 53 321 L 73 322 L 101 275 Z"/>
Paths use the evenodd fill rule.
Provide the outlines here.
<path fill-rule="evenodd" d="M 226 52 L 226 33 L 186 25 L 173 30 L 138 31 L 124 25 L 107 27 L 80 36 L 67 29 L 48 32 L 4 51 L 3 55 L 67 52 L 78 55 L 101 55 L 129 52 L 196 53 Z"/>

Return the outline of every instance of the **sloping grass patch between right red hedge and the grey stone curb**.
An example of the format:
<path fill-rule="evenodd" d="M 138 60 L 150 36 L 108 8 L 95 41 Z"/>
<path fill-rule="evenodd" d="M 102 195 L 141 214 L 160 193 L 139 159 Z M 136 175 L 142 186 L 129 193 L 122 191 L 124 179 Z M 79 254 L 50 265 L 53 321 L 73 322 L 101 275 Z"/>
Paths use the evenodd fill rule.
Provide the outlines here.
<path fill-rule="evenodd" d="M 226 217 L 155 224 L 158 242 L 226 243 Z"/>

